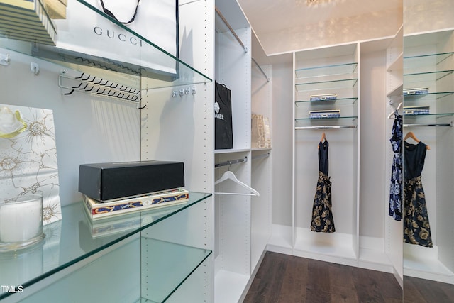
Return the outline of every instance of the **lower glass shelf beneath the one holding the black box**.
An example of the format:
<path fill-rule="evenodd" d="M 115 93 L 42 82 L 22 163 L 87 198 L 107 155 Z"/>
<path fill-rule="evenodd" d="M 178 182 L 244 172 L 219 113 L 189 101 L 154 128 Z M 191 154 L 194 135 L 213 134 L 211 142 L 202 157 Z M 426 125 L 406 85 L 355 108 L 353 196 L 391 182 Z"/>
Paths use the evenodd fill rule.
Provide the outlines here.
<path fill-rule="evenodd" d="M 211 250 L 142 238 L 142 299 L 166 302 L 185 280 L 208 258 Z M 150 260 L 148 260 L 150 258 Z"/>

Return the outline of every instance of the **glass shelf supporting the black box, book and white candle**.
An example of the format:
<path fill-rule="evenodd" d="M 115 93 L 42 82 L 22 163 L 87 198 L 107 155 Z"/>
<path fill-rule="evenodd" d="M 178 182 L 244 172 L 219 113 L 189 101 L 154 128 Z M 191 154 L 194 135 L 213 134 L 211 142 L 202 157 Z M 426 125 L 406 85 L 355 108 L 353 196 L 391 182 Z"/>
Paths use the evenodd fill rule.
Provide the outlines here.
<path fill-rule="evenodd" d="M 46 236 L 39 245 L 16 253 L 0 253 L 0 285 L 29 287 L 130 236 L 140 235 L 140 231 L 145 228 L 203 202 L 210 196 L 211 194 L 190 192 L 189 201 L 184 204 L 96 221 L 88 218 L 82 202 L 64 206 L 63 219 L 44 226 Z M 203 260 L 210 253 L 208 250 L 179 247 L 182 248 L 181 253 L 200 255 Z M 12 293 L 0 289 L 0 299 L 10 294 Z"/>

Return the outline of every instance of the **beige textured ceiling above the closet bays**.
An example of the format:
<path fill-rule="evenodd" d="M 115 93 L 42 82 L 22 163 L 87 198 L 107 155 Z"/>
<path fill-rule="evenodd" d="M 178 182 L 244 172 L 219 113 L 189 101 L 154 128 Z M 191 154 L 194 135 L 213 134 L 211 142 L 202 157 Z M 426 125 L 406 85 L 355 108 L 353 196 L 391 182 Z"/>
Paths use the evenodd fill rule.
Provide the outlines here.
<path fill-rule="evenodd" d="M 306 0 L 238 0 L 238 4 L 263 44 L 265 52 L 268 49 L 271 53 L 278 49 L 271 45 L 270 37 L 282 37 L 284 33 L 292 33 L 295 29 L 302 32 L 304 28 L 323 29 L 326 25 L 336 28 L 336 24 L 341 32 L 345 24 L 348 26 L 349 20 L 356 21 L 358 16 L 365 16 L 365 20 L 374 16 L 382 19 L 387 13 L 380 12 L 402 11 L 402 0 L 318 0 L 309 4 Z M 396 18 L 395 13 L 392 18 Z M 402 23 L 402 20 L 399 22 Z M 383 26 L 383 23 L 375 24 Z"/>

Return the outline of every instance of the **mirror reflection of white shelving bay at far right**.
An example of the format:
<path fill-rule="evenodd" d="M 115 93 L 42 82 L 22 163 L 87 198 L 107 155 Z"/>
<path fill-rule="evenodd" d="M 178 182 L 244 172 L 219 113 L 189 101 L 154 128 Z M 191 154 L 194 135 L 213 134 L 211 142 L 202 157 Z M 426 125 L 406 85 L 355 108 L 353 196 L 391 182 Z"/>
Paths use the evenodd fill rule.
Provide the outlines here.
<path fill-rule="evenodd" d="M 431 147 L 421 175 L 433 248 L 404 243 L 404 275 L 454 283 L 454 240 L 446 226 L 454 211 L 454 30 L 404 35 L 404 110 L 423 106 L 423 114 L 404 114 L 404 131 Z M 430 177 L 428 177 L 430 176 Z M 435 176 L 435 177 L 433 177 Z"/>

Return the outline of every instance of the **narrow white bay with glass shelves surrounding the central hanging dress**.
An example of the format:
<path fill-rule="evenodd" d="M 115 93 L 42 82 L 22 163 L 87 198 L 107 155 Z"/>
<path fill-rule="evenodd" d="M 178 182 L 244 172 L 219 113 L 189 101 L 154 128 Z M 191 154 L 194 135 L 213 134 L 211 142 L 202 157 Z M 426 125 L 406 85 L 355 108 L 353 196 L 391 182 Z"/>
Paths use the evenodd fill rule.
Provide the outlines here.
<path fill-rule="evenodd" d="M 358 43 L 294 53 L 293 226 L 274 228 L 287 233 L 281 241 L 291 240 L 282 249 L 291 249 L 294 255 L 358 264 L 359 64 Z M 336 97 L 314 100 L 319 94 Z M 309 115 L 309 111 L 332 109 L 340 114 L 315 119 Z M 335 233 L 314 233 L 309 228 L 322 132 L 330 143 Z"/>

